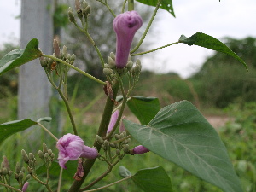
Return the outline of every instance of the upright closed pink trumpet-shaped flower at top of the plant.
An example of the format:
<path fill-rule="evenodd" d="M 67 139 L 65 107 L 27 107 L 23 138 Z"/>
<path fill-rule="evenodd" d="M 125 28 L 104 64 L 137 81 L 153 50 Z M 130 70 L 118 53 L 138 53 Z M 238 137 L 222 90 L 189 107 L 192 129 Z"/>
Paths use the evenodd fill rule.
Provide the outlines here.
<path fill-rule="evenodd" d="M 113 30 L 116 33 L 116 67 L 126 66 L 132 39 L 142 25 L 143 19 L 136 11 L 127 11 L 113 20 Z"/>

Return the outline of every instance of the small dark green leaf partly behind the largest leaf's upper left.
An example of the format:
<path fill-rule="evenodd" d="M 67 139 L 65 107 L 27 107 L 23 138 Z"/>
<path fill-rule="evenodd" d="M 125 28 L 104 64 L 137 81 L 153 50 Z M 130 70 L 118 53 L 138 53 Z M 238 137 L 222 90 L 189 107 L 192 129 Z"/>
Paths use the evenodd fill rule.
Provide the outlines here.
<path fill-rule="evenodd" d="M 155 97 L 133 96 L 127 105 L 142 125 L 148 125 L 160 110 L 159 99 Z"/>

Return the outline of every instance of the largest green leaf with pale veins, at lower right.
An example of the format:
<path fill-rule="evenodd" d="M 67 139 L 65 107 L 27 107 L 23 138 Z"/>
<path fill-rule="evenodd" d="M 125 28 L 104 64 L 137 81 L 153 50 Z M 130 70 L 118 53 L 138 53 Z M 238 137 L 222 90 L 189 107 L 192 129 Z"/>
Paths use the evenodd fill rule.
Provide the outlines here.
<path fill-rule="evenodd" d="M 224 143 L 190 102 L 162 108 L 148 125 L 126 119 L 124 124 L 132 137 L 155 154 L 226 192 L 242 191 Z"/>

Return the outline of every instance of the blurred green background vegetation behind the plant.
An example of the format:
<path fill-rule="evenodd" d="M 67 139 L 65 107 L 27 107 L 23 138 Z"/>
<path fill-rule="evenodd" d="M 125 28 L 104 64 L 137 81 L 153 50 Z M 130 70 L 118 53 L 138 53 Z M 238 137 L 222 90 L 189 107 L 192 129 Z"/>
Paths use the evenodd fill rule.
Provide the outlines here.
<path fill-rule="evenodd" d="M 55 35 L 59 36 L 61 44 L 66 44 L 70 52 L 77 55 L 77 66 L 97 78 L 105 80 L 94 49 L 90 47 L 82 33 L 65 21 L 67 18 L 63 12 L 67 11 L 67 5 L 62 3 L 55 6 L 57 10 L 55 12 L 57 14 L 54 15 Z M 113 9 L 115 6 L 117 8 L 118 3 L 112 5 Z M 105 14 L 107 10 L 98 9 L 96 3 L 91 4 L 91 7 L 94 9 L 90 15 L 91 35 L 97 39 L 103 57 L 107 58 L 110 51 L 115 51 L 115 44 L 113 44 L 115 36 L 112 27 L 109 27 L 112 25 L 112 19 L 109 18 L 111 15 Z M 148 20 L 148 14 L 148 9 L 145 9 L 143 15 L 145 20 Z M 63 25 L 57 25 L 60 22 Z M 104 24 L 103 27 L 100 26 L 102 23 Z M 63 28 L 65 31 L 61 33 Z M 139 34 L 137 37 L 139 37 Z M 159 74 L 143 71 L 133 95 L 158 97 L 162 107 L 173 102 L 188 100 L 194 103 L 197 108 L 200 108 L 201 112 L 207 117 L 218 116 L 220 119 L 228 117 L 227 123 L 216 126 L 217 131 L 228 148 L 230 159 L 235 165 L 237 174 L 241 177 L 244 191 L 256 192 L 256 38 L 224 38 L 223 42 L 246 61 L 249 72 L 230 56 L 214 53 L 207 57 L 201 65 L 201 69 L 188 79 L 182 79 L 177 73 Z M 4 44 L 0 49 L 0 58 L 17 47 L 17 44 L 11 42 Z M 152 61 L 154 61 L 154 58 L 152 58 Z M 16 95 L 19 83 L 17 74 L 18 69 L 0 77 L 0 124 L 16 119 Z M 78 73 L 71 73 L 68 81 L 68 95 L 77 126 L 82 133 L 81 137 L 84 138 L 85 143 L 90 144 L 94 140 L 105 101 L 102 86 Z M 59 114 L 61 114 L 61 120 L 54 118 L 50 125 L 46 124 L 55 136 L 61 137 L 64 133 L 72 131 L 63 103 L 58 98 L 53 97 L 50 108 L 53 118 L 59 117 Z M 127 118 L 134 119 L 128 110 L 125 111 L 125 115 Z M 26 134 L 29 135 L 29 132 Z M 22 148 L 28 148 L 27 153 L 37 154 L 38 148 L 33 148 L 32 143 L 27 142 L 24 137 L 26 136 L 20 133 L 15 134 L 0 146 L 0 157 L 5 154 L 13 168 L 17 161 L 21 162 L 19 151 Z M 55 141 L 41 130 L 38 130 L 38 137 L 38 143 L 47 143 L 57 156 Z M 137 143 L 135 142 L 132 145 L 135 146 Z M 13 150 L 14 148 L 15 150 Z M 41 163 L 38 161 L 38 165 Z M 142 168 L 163 166 L 172 179 L 174 191 L 221 191 L 152 153 L 126 157 L 119 165 L 126 166 L 132 173 L 136 173 L 137 170 Z M 90 180 L 95 179 L 101 174 L 102 170 L 104 171 L 107 168 L 106 165 L 102 165 L 98 161 L 96 167 L 96 171 L 90 174 Z M 97 183 L 95 187 L 119 180 L 117 169 L 118 166 L 113 169 L 109 177 Z M 56 189 L 58 177 L 53 178 L 52 185 Z M 34 186 L 32 188 L 32 185 L 30 185 L 29 190 L 46 191 L 40 185 L 35 184 Z M 63 191 L 65 191 L 65 188 L 68 188 L 68 184 L 63 182 Z M 1 187 L 0 190 L 2 190 Z M 141 190 L 137 189 L 131 181 L 128 181 L 104 189 L 104 192 L 108 191 L 131 192 Z"/>

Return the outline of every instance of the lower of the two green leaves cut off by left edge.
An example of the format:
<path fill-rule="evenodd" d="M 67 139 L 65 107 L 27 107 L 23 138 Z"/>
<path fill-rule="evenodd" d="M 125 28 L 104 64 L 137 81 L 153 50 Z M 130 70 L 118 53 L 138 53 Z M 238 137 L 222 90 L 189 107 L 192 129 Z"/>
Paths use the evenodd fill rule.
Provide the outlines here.
<path fill-rule="evenodd" d="M 24 131 L 32 125 L 36 125 L 37 122 L 32 121 L 31 119 L 15 120 L 0 125 L 0 144 L 7 137 L 15 134 L 19 131 Z"/>

